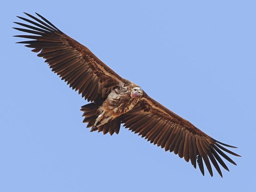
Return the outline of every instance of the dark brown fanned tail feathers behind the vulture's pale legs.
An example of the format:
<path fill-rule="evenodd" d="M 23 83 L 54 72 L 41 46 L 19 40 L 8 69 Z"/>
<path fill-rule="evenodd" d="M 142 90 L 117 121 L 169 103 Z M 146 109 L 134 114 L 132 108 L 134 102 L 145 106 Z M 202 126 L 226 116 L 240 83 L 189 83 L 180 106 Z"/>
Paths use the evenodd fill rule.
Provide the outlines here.
<path fill-rule="evenodd" d="M 81 107 L 80 110 L 84 112 L 84 114 L 82 115 L 84 116 L 83 123 L 88 123 L 86 127 L 91 127 L 91 132 L 98 130 L 98 132 L 103 132 L 103 134 L 106 134 L 108 132 L 110 135 L 113 135 L 114 132 L 118 134 L 121 125 L 120 117 L 116 117 L 112 121 L 103 124 L 99 127 L 94 127 L 94 123 L 98 117 L 96 116 L 96 112 L 97 109 L 102 105 L 102 103 L 103 102 L 89 103 Z"/>

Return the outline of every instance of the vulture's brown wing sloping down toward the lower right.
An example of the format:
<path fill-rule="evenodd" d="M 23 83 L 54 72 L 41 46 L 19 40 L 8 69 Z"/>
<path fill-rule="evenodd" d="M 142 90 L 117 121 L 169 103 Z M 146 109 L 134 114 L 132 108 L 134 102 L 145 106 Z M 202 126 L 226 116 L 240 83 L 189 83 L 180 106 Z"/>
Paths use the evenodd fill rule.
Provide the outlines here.
<path fill-rule="evenodd" d="M 224 169 L 228 170 L 228 167 L 219 155 L 235 165 L 236 163 L 223 151 L 239 156 L 221 145 L 231 148 L 236 147 L 213 139 L 189 121 L 176 115 L 147 95 L 132 110 L 122 116 L 122 123 L 124 123 L 125 128 L 129 128 L 134 133 L 139 133 L 139 135 L 148 139 L 150 143 L 161 146 L 165 151 L 173 151 L 180 158 L 184 157 L 187 162 L 190 159 L 195 168 L 197 160 L 203 175 L 203 161 L 211 176 L 213 174 L 210 161 L 222 177 L 217 161 Z"/>

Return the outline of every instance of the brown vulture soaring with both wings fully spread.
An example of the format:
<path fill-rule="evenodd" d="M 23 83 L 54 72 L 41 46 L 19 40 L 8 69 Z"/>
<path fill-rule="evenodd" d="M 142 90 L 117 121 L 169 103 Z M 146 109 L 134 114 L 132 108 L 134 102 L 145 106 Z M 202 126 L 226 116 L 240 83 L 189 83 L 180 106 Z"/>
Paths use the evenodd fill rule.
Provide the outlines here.
<path fill-rule="evenodd" d="M 210 173 L 212 165 L 222 177 L 221 165 L 228 170 L 223 158 L 236 163 L 223 151 L 239 156 L 225 147 L 236 148 L 213 139 L 186 119 L 147 95 L 143 89 L 116 74 L 98 59 L 87 47 L 67 36 L 50 21 L 25 13 L 29 19 L 19 17 L 25 23 L 14 22 L 23 28 L 14 28 L 31 39 L 17 43 L 26 44 L 39 52 L 54 73 L 65 80 L 69 87 L 82 94 L 91 103 L 81 107 L 84 123 L 91 132 L 118 134 L 121 124 L 150 143 L 174 152 L 185 161 L 196 164 L 204 175 L 204 164 Z M 32 24 L 32 25 L 31 25 Z M 225 147 L 223 147 L 225 146 Z M 204 162 L 204 163 L 203 163 Z M 212 164 L 212 165 L 211 165 Z M 229 170 L 228 170 L 229 171 Z"/>

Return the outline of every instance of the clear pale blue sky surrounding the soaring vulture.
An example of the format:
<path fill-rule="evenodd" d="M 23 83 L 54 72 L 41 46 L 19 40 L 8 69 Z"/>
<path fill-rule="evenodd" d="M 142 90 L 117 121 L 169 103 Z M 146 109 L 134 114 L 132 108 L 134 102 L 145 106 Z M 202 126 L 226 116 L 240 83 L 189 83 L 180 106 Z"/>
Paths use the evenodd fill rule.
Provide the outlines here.
<path fill-rule="evenodd" d="M 253 191 L 255 1 L 5 1 L 1 4 L 0 191 Z M 120 76 L 237 146 L 211 178 L 121 127 L 90 132 L 87 102 L 13 35 L 38 12 Z M 35 14 L 34 14 L 35 15 Z"/>

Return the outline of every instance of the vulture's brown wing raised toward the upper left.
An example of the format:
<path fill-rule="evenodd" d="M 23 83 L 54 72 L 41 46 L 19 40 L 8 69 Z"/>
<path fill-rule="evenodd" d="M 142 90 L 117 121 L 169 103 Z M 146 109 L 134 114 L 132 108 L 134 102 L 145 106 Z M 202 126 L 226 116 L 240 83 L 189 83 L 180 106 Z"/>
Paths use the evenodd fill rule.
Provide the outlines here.
<path fill-rule="evenodd" d="M 33 52 L 40 52 L 37 56 L 43 57 L 54 73 L 60 75 L 61 80 L 67 81 L 72 89 L 82 93 L 88 101 L 97 102 L 108 95 L 109 90 L 127 80 L 117 75 L 112 69 L 98 59 L 87 47 L 64 34 L 41 15 L 42 20 L 28 14 L 33 20 L 18 17 L 34 26 L 14 22 L 25 28 L 14 28 L 32 35 L 17 35 L 33 39 L 18 43 L 28 44 L 34 48 Z M 33 30 L 31 30 L 33 29 Z"/>

